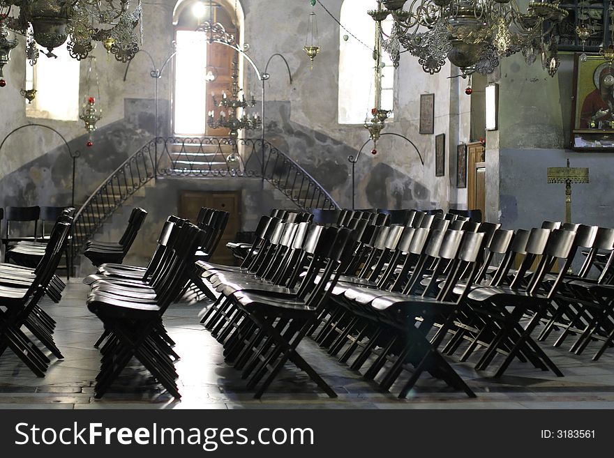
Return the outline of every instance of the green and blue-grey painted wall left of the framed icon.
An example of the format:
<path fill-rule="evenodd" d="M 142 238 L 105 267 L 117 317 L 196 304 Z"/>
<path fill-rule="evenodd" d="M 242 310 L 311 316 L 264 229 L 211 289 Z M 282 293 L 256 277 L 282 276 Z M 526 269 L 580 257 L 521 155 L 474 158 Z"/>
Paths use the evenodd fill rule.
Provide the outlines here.
<path fill-rule="evenodd" d="M 522 57 L 502 64 L 499 89 L 500 129 L 488 132 L 486 151 L 487 215 L 507 228 L 536 227 L 564 220 L 564 185 L 546 183 L 548 167 L 589 167 L 590 183 L 572 186 L 574 222 L 614 225 L 612 153 L 571 151 L 573 56 L 562 56 L 554 78 L 539 61 L 528 67 Z"/>

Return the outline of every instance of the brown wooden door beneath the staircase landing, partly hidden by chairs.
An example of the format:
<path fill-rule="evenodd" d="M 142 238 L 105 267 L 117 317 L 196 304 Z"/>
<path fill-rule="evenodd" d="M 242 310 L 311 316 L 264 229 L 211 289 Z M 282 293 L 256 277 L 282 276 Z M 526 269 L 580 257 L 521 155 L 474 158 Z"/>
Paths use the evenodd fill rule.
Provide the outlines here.
<path fill-rule="evenodd" d="M 234 241 L 241 229 L 241 192 L 240 191 L 180 191 L 179 217 L 196 222 L 201 207 L 216 208 L 230 213 L 228 224 L 211 261 L 219 264 L 234 264 L 232 252 L 226 243 Z"/>

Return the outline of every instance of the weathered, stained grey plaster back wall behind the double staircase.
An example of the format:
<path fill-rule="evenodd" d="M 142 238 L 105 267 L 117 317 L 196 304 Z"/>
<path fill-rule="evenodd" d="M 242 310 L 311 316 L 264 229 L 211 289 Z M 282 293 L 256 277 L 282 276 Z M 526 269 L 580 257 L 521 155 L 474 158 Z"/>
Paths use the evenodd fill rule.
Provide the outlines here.
<path fill-rule="evenodd" d="M 350 206 L 351 167 L 347 156 L 356 155 L 368 139 L 368 134 L 361 125 L 337 123 L 338 24 L 317 6 L 315 11 L 322 51 L 315 59 L 313 71 L 310 71 L 308 59 L 301 49 L 310 12 L 308 2 L 244 0 L 241 3 L 245 14 L 245 41 L 250 45 L 248 54 L 261 72 L 270 56 L 283 54 L 294 79 L 290 85 L 281 59 L 271 60 L 267 68 L 271 78 L 264 82 L 267 137 L 320 181 L 340 206 Z M 338 17 L 341 1 L 329 0 L 326 4 L 331 13 Z M 142 49 L 151 54 L 156 67 L 171 52 L 173 7 L 172 0 L 144 2 Z M 347 26 L 351 29 L 351 24 Z M 151 61 L 145 53 L 137 54 L 130 63 L 124 82 L 126 66 L 112 57 L 107 59 L 102 47 L 95 50 L 105 117 L 94 136 L 95 146 L 86 149 L 82 147 L 86 138 L 80 121 L 41 121 L 25 117 L 24 104 L 18 93 L 24 77 L 23 45 L 20 46 L 13 52 L 13 59 L 6 67 L 9 83 L 0 90 L 0 105 L 6 119 L 0 125 L 0 136 L 28 122 L 43 122 L 57 128 L 71 141 L 73 149 L 83 151 L 82 158 L 77 162 L 79 174 L 76 187 L 77 202 L 82 201 L 110 171 L 153 136 L 154 82 L 149 76 Z M 42 56 L 41 59 L 46 57 Z M 246 69 L 247 91 L 259 94 L 260 82 L 253 69 L 249 66 Z M 456 190 L 454 186 L 454 158 L 456 144 L 469 141 L 470 99 L 463 94 L 463 83 L 458 78 L 449 78 L 456 76 L 457 71 L 446 64 L 439 73 L 428 75 L 421 70 L 416 59 L 407 55 L 402 57 L 396 72 L 394 121 L 387 125 L 385 132 L 410 138 L 424 158 L 424 167 L 412 146 L 398 137 L 382 138 L 375 156 L 370 155 L 372 147 L 368 144 L 356 166 L 357 208 L 449 208 L 465 205 L 466 191 Z M 172 63 L 165 68 L 163 77 L 158 79 L 160 134 L 169 132 L 171 76 Z M 435 93 L 433 135 L 418 133 L 421 93 Z M 26 131 L 29 131 L 27 135 Z M 446 175 L 435 177 L 434 146 L 435 135 L 439 133 L 446 134 Z M 18 204 L 62 204 L 61 201 L 68 201 L 70 160 L 49 132 L 34 128 L 23 130 L 13 135 L 0 153 L 5 159 L 0 162 L 0 176 L 4 177 L 0 181 L 4 190 L 4 205 L 14 202 L 14 199 Z M 195 181 L 189 183 L 192 184 L 182 186 L 202 186 Z M 250 189 L 252 192 L 257 190 Z M 271 193 L 273 201 L 278 201 L 279 195 L 270 189 L 265 188 L 265 191 Z M 161 202 L 176 205 L 174 192 L 173 188 L 167 188 L 161 197 L 158 196 L 160 198 L 147 198 L 142 206 L 161 208 Z M 262 183 L 258 192 L 262 192 Z M 153 194 L 151 190 L 147 191 L 148 196 Z M 259 201 L 267 202 L 269 198 Z M 252 229 L 249 226 L 255 225 L 255 215 L 251 213 L 263 207 L 244 207 L 244 229 Z M 117 224 L 119 230 L 121 222 Z M 107 234 L 112 234 L 112 231 Z"/>

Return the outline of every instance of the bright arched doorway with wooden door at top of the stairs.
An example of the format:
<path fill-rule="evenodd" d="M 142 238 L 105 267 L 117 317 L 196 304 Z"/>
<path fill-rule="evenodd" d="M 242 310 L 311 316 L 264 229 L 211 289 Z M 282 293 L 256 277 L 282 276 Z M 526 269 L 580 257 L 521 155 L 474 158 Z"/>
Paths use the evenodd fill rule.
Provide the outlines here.
<path fill-rule="evenodd" d="M 228 3 L 228 4 L 227 4 Z M 238 8 L 238 5 L 237 5 Z M 239 17 L 239 20 L 237 20 Z M 177 55 L 174 61 L 173 130 L 177 135 L 227 135 L 227 129 L 207 125 L 209 112 L 217 118 L 220 100 L 232 85 L 232 59 L 236 52 L 220 43 L 211 43 L 199 30 L 204 22 L 219 22 L 240 45 L 241 11 L 227 1 L 179 0 L 174 11 Z M 239 22 L 239 24 L 237 24 Z M 239 59 L 240 61 L 241 59 Z M 240 75 L 240 72 L 239 72 Z M 241 77 L 239 77 L 241 81 Z"/>

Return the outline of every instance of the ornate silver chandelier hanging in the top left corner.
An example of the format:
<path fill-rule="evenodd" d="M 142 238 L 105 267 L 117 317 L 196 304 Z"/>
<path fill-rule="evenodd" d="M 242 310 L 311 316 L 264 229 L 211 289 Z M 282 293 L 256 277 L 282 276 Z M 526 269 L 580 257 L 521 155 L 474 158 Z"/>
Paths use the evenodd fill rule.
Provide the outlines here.
<path fill-rule="evenodd" d="M 47 57 L 55 57 L 53 49 L 68 40 L 68 52 L 85 59 L 96 45 L 103 43 L 107 52 L 121 62 L 129 61 L 142 40 L 135 28 L 142 14 L 141 1 L 129 0 L 0 0 L 0 71 L 8 62 L 8 53 L 16 39 L 8 31 L 26 37 L 27 59 L 33 65 L 38 47 L 47 49 Z"/>

